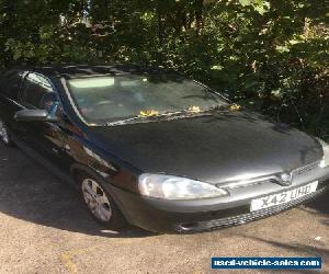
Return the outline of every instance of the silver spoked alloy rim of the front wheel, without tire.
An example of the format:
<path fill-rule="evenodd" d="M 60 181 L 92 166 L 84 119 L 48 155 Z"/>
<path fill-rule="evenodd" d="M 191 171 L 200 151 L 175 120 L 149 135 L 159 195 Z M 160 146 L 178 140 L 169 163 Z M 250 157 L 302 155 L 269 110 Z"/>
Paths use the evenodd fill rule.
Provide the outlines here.
<path fill-rule="evenodd" d="M 93 179 L 84 179 L 82 181 L 82 194 L 93 216 L 101 221 L 110 221 L 112 208 L 102 186 Z"/>

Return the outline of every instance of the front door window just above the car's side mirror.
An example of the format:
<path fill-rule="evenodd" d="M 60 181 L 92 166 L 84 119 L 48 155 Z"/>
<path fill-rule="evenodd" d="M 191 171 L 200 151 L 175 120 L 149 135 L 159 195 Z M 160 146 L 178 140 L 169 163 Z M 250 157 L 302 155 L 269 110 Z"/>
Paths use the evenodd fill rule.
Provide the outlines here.
<path fill-rule="evenodd" d="M 52 83 L 43 76 L 29 73 L 23 82 L 20 101 L 26 107 L 44 109 L 44 99 L 54 94 Z"/>

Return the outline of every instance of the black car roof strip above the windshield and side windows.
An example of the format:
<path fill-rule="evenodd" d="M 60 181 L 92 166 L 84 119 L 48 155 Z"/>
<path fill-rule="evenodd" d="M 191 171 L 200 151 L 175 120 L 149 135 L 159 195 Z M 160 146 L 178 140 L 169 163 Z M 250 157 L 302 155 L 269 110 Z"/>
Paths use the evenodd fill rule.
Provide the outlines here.
<path fill-rule="evenodd" d="M 162 68 L 141 67 L 137 65 L 50 65 L 35 67 L 15 67 L 14 70 L 30 70 L 46 75 L 48 77 L 64 77 L 67 79 L 104 76 L 104 75 L 158 75 L 173 73 L 173 70 Z M 177 72 L 174 72 L 177 73 Z"/>

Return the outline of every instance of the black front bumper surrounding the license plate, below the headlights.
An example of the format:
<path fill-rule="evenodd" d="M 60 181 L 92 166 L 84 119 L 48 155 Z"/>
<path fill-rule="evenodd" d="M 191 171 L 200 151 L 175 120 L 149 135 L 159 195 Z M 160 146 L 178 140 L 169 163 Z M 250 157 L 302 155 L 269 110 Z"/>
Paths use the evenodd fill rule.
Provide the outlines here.
<path fill-rule="evenodd" d="M 140 228 L 155 232 L 195 232 L 246 224 L 271 216 L 306 203 L 324 193 L 329 185 L 329 172 L 313 174 L 295 181 L 291 186 L 252 185 L 239 187 L 230 197 L 203 201 L 161 201 L 146 198 L 111 186 L 116 203 L 126 219 Z M 280 193 L 318 181 L 316 192 L 286 204 L 250 212 L 251 199 Z"/>

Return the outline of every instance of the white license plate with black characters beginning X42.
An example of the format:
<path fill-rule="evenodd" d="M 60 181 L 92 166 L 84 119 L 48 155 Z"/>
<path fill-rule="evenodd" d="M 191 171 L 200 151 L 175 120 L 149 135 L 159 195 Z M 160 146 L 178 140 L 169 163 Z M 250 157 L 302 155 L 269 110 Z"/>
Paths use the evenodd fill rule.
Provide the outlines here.
<path fill-rule="evenodd" d="M 318 182 L 313 182 L 291 191 L 281 192 L 277 194 L 272 194 L 265 197 L 256 198 L 251 201 L 250 212 L 256 212 L 264 208 L 269 208 L 276 205 L 286 204 L 294 199 L 300 198 L 313 192 L 316 192 L 318 187 Z"/>

